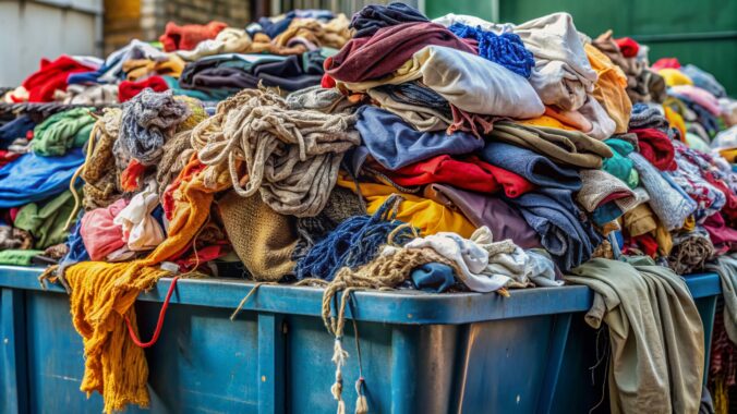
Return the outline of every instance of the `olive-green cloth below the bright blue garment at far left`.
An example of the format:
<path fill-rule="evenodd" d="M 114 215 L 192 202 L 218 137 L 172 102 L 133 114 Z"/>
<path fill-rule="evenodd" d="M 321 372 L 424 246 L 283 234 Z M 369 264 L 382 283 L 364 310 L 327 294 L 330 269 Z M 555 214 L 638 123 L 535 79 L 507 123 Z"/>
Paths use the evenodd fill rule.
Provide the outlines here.
<path fill-rule="evenodd" d="M 69 232 L 64 230 L 64 224 L 73 208 L 74 197 L 67 190 L 46 204 L 31 203 L 21 207 L 13 226 L 31 233 L 34 247 L 44 249 L 67 241 Z"/>

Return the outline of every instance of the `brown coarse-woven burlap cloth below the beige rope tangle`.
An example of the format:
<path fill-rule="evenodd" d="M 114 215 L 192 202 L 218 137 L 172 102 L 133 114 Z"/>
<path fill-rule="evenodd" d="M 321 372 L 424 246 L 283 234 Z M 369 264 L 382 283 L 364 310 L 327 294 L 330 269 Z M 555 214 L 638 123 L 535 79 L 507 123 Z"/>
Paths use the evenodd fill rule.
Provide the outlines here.
<path fill-rule="evenodd" d="M 222 223 L 238 257 L 254 280 L 279 281 L 294 269 L 294 218 L 275 212 L 258 195 L 229 191 L 218 202 Z"/>

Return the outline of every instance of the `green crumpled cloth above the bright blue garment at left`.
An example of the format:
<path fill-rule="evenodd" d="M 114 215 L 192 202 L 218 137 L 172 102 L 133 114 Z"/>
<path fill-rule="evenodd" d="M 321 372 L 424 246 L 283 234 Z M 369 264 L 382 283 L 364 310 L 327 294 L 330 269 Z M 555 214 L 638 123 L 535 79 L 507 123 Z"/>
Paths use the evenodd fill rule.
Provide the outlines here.
<path fill-rule="evenodd" d="M 95 118 L 92 108 L 74 108 L 47 118 L 34 129 L 31 148 L 39 156 L 52 157 L 80 148 L 92 133 Z"/>

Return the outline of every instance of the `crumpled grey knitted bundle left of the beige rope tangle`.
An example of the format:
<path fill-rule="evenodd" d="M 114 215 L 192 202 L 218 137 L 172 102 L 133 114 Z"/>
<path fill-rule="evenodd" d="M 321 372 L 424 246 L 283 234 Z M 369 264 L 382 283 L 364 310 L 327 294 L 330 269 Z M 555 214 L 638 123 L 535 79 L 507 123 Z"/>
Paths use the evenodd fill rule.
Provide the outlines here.
<path fill-rule="evenodd" d="M 155 165 L 174 127 L 190 115 L 186 105 L 174 100 L 171 92 L 144 89 L 123 105 L 117 151 L 128 153 L 144 166 Z"/>

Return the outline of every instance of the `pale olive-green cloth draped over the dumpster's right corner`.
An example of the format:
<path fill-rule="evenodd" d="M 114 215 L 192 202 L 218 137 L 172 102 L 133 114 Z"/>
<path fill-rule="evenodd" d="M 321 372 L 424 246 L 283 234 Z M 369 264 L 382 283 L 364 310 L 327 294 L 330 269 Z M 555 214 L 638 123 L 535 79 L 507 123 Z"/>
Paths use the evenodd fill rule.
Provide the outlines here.
<path fill-rule="evenodd" d="M 704 333 L 686 282 L 650 257 L 595 258 L 565 280 L 594 291 L 587 322 L 609 329 L 612 413 L 698 413 Z"/>

